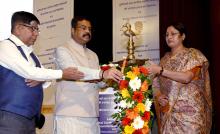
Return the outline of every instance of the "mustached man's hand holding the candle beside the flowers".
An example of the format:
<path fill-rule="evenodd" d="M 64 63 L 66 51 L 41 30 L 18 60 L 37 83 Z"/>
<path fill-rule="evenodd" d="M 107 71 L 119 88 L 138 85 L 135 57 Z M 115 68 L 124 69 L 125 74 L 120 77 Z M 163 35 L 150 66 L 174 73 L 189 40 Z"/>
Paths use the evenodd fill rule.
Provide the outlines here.
<path fill-rule="evenodd" d="M 108 69 L 104 71 L 103 73 L 104 79 L 112 79 L 116 82 L 119 82 L 122 79 L 122 77 L 123 77 L 123 74 L 121 73 L 121 71 L 115 68 Z"/>

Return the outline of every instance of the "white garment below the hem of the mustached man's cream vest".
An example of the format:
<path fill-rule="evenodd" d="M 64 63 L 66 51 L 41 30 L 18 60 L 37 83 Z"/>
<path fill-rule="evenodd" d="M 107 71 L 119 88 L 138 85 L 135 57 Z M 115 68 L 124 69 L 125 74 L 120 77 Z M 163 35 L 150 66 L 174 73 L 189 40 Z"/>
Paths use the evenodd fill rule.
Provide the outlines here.
<path fill-rule="evenodd" d="M 55 116 L 54 134 L 100 134 L 98 118 Z"/>

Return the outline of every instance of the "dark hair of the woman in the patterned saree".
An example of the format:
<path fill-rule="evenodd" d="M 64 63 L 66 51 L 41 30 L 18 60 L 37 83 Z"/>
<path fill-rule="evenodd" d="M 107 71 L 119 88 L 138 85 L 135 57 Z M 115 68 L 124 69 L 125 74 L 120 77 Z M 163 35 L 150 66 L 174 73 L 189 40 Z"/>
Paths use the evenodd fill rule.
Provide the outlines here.
<path fill-rule="evenodd" d="M 187 41 L 187 30 L 183 23 L 177 22 L 177 23 L 171 23 L 168 27 L 173 26 L 176 30 L 180 32 L 180 35 L 185 34 L 185 39 L 183 41 L 183 44 L 186 46 L 188 44 Z"/>

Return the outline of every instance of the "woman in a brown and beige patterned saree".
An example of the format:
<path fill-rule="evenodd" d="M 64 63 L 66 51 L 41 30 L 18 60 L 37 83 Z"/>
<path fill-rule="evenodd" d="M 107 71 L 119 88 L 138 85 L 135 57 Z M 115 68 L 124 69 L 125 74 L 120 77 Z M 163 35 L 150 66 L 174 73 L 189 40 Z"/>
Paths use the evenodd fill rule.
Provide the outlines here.
<path fill-rule="evenodd" d="M 212 101 L 208 60 L 197 49 L 186 48 L 182 23 L 167 27 L 166 42 L 171 48 L 160 65 L 151 64 L 155 106 L 162 134 L 209 134 Z"/>

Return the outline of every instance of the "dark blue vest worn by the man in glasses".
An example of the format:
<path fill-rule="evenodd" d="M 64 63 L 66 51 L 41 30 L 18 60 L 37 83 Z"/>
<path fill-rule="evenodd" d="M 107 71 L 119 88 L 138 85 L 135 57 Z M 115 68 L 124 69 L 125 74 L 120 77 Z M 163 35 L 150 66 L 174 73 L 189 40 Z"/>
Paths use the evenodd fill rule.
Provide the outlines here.
<path fill-rule="evenodd" d="M 10 40 L 10 39 L 9 39 Z M 11 40 L 10 40 L 11 41 Z M 12 41 L 12 43 L 14 43 Z M 20 46 L 15 45 L 23 57 L 27 59 Z M 31 57 L 40 67 L 40 63 L 34 54 Z M 25 78 L 17 75 L 0 65 L 0 109 L 16 113 L 27 118 L 33 118 L 40 114 L 43 101 L 42 84 L 28 87 Z"/>

